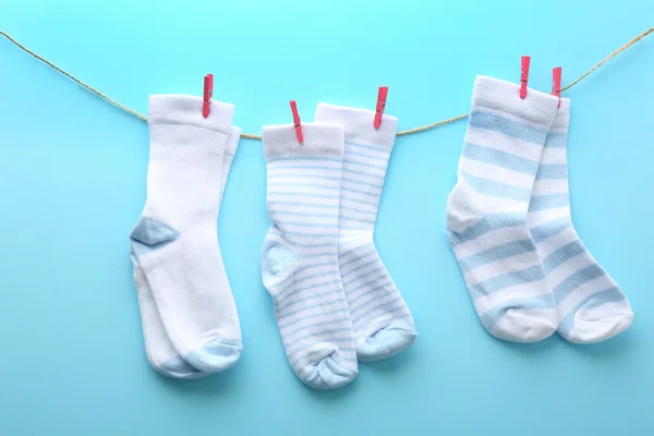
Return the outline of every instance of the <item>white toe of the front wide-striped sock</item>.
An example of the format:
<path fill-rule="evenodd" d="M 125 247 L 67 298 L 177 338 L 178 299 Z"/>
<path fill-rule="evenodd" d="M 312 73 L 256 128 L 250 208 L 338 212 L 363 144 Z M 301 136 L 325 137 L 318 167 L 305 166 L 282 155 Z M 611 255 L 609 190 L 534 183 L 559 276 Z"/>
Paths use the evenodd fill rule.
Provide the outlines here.
<path fill-rule="evenodd" d="M 554 311 L 511 308 L 495 324 L 491 334 L 513 342 L 537 342 L 557 329 Z"/>

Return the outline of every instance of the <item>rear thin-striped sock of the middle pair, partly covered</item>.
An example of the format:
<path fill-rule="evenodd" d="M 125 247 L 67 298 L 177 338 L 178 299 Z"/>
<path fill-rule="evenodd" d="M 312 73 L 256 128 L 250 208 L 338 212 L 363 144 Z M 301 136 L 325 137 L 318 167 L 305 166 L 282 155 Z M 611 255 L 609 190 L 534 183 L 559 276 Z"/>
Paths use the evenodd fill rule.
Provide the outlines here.
<path fill-rule="evenodd" d="M 373 241 L 375 219 L 398 120 L 375 112 L 318 105 L 315 121 L 343 125 L 346 147 L 340 185 L 338 261 L 361 361 L 389 358 L 409 348 L 415 328 L 407 303 Z"/>

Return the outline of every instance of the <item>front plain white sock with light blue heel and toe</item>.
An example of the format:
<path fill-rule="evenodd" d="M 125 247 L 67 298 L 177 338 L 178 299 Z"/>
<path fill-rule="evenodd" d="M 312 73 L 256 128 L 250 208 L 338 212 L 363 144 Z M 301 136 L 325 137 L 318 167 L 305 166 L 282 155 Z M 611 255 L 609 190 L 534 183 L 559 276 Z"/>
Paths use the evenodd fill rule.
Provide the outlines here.
<path fill-rule="evenodd" d="M 130 238 L 173 348 L 219 372 L 242 349 L 216 230 L 233 106 L 214 101 L 206 119 L 196 97 L 150 97 L 147 201 Z"/>

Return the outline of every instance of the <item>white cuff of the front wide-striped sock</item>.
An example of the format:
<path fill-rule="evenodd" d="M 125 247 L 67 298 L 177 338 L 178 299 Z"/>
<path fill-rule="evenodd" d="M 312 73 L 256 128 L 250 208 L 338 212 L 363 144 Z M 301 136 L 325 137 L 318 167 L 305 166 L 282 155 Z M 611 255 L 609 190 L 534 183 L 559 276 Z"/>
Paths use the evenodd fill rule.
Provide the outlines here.
<path fill-rule="evenodd" d="M 519 117 L 525 121 L 549 129 L 557 112 L 558 98 L 528 88 L 520 98 L 520 85 L 483 75 L 476 76 L 472 92 L 472 110 L 496 110 Z"/>

